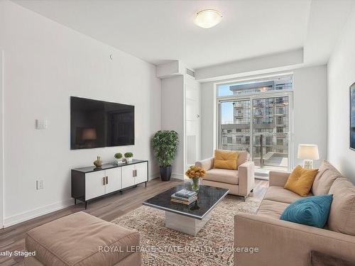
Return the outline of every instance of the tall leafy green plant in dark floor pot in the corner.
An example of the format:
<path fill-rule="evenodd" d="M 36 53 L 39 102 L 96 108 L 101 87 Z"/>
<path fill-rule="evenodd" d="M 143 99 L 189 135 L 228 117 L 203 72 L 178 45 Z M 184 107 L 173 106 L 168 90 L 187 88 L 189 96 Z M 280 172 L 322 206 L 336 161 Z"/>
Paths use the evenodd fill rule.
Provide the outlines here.
<path fill-rule="evenodd" d="M 153 150 L 159 162 L 160 178 L 169 181 L 171 163 L 175 158 L 179 145 L 179 135 L 176 131 L 158 131 L 153 135 Z"/>

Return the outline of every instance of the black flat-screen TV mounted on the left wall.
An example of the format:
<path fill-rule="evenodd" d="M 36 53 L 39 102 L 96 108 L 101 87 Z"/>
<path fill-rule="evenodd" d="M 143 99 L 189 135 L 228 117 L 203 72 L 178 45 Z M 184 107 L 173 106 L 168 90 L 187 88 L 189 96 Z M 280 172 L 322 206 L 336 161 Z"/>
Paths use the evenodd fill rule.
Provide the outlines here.
<path fill-rule="evenodd" d="M 70 148 L 134 144 L 134 106 L 70 97 Z"/>

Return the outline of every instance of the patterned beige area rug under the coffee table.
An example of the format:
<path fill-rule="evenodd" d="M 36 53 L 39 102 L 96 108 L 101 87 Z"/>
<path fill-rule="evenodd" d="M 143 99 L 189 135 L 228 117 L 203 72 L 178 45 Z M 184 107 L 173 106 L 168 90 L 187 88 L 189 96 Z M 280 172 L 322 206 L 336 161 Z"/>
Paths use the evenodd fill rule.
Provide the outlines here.
<path fill-rule="evenodd" d="M 112 223 L 141 233 L 142 265 L 233 265 L 234 216 L 253 214 L 261 200 L 226 196 L 196 236 L 165 227 L 165 211 L 141 206 Z"/>

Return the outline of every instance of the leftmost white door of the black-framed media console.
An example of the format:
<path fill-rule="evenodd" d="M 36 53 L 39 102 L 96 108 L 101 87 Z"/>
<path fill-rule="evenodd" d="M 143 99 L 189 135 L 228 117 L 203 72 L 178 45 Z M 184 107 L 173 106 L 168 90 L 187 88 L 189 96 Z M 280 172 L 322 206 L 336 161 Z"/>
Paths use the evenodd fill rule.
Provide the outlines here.
<path fill-rule="evenodd" d="M 105 194 L 104 171 L 85 174 L 85 200 Z"/>

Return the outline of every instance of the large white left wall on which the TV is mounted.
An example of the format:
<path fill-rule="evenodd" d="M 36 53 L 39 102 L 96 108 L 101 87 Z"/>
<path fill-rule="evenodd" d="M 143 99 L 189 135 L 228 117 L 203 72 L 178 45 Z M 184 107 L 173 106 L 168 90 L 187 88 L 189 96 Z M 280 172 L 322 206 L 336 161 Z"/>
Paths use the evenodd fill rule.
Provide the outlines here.
<path fill-rule="evenodd" d="M 4 200 L 6 225 L 72 204 L 70 169 L 132 151 L 158 167 L 151 135 L 160 129 L 155 66 L 10 1 L 0 1 L 4 49 Z M 109 54 L 113 60 L 109 59 Z M 135 106 L 136 144 L 70 150 L 70 96 Z M 35 130 L 47 118 L 47 130 Z M 35 180 L 44 189 L 35 190 Z"/>

